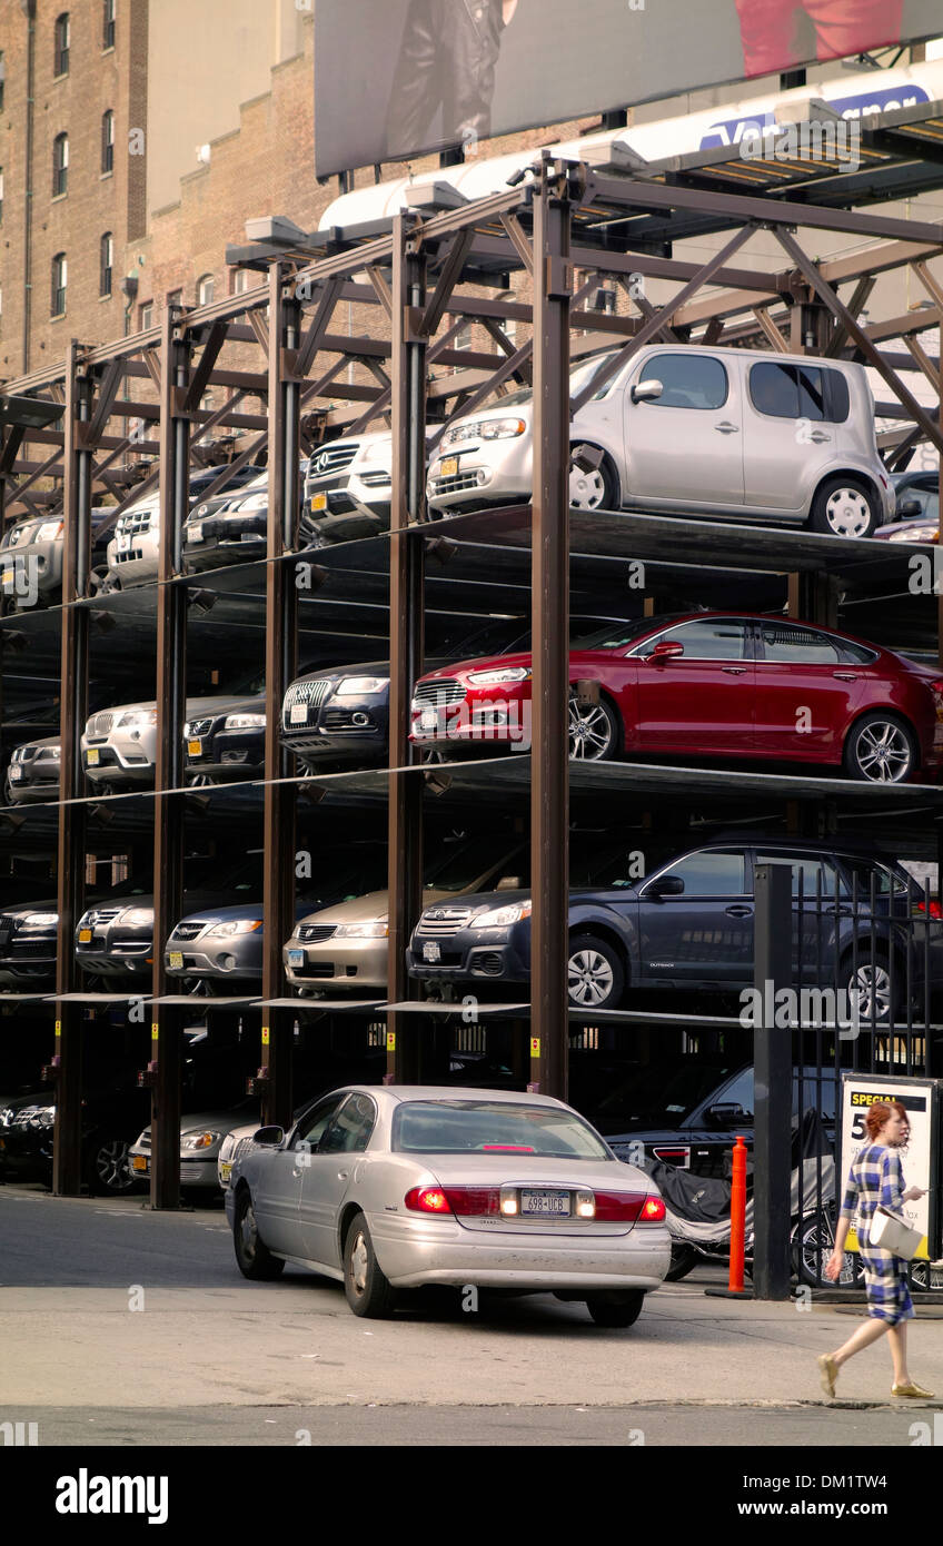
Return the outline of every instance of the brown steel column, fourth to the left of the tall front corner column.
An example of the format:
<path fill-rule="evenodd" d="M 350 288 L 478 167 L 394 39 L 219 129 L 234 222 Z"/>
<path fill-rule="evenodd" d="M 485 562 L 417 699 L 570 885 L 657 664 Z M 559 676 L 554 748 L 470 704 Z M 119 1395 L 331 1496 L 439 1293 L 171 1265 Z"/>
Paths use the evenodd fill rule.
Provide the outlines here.
<path fill-rule="evenodd" d="M 59 799 L 80 799 L 80 736 L 88 716 L 88 611 L 76 606 L 88 583 L 91 538 L 91 451 L 80 425 L 90 417 L 91 382 L 79 374 L 79 348 L 73 340 L 65 376 L 63 444 L 63 567 L 62 567 L 62 676 L 59 707 Z M 56 1129 L 53 1135 L 53 1190 L 76 1197 L 82 1186 L 82 1006 L 62 1003 L 77 989 L 76 923 L 85 894 L 87 807 L 60 804 L 57 852 L 56 935 Z"/>

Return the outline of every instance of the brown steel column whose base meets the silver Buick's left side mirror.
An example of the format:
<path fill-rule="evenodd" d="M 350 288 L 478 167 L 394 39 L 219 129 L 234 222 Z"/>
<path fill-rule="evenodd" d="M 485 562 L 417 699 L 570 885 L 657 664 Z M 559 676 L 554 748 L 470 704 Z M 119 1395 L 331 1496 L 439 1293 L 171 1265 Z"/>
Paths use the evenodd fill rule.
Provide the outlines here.
<path fill-rule="evenodd" d="M 295 547 L 298 526 L 300 382 L 297 377 L 301 308 L 284 294 L 286 269 L 269 269 L 269 564 L 266 574 L 266 792 L 263 878 L 263 999 L 284 994 L 281 946 L 295 926 L 294 775 L 278 734 L 281 702 L 298 668 L 298 586 L 303 570 L 281 560 Z M 292 1030 L 286 1010 L 263 1010 L 263 1122 L 291 1125 Z"/>

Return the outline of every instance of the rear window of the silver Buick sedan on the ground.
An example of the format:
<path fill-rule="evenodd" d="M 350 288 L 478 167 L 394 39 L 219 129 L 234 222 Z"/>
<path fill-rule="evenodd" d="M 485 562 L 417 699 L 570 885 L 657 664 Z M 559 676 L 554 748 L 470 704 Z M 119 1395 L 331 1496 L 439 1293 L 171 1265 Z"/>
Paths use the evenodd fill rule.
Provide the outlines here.
<path fill-rule="evenodd" d="M 407 1101 L 393 1118 L 393 1150 L 611 1158 L 603 1141 L 575 1112 L 512 1101 Z"/>

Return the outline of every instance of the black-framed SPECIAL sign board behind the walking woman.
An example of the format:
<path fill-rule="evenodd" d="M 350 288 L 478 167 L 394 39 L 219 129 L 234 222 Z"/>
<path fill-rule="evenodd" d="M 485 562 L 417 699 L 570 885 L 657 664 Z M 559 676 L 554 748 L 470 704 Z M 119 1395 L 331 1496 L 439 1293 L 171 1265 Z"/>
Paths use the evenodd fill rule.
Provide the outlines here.
<path fill-rule="evenodd" d="M 838 1177 L 838 1206 L 844 1197 L 846 1181 L 853 1161 L 870 1142 L 864 1119 L 875 1101 L 900 1101 L 907 1113 L 911 1136 L 900 1150 L 906 1186 L 920 1186 L 926 1197 L 903 1204 L 903 1217 L 914 1229 L 920 1229 L 918 1257 L 935 1260 L 940 1254 L 937 1184 L 937 1101 L 935 1079 L 897 1078 L 883 1073 L 844 1073 L 841 1076 L 841 1175 Z M 847 1251 L 858 1249 L 855 1224 L 849 1231 Z M 931 1249 L 932 1246 L 932 1249 Z"/>

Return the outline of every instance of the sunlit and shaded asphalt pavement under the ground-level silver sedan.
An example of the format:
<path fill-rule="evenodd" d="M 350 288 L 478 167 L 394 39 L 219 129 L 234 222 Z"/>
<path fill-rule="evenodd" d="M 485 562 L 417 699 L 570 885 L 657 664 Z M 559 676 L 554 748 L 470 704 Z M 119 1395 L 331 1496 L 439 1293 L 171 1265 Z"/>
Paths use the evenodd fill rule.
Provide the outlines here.
<path fill-rule="evenodd" d="M 926 1444 L 943 1402 L 890 1398 L 881 1345 L 836 1401 L 815 1357 L 847 1306 L 705 1297 L 700 1268 L 651 1296 L 635 1326 L 595 1326 L 550 1296 L 403 1297 L 365 1322 L 343 1289 L 288 1268 L 241 1279 L 221 1207 L 0 1187 L 0 1422 L 40 1446 L 189 1444 Z M 940 1308 L 911 1368 L 943 1391 Z M 937 1317 L 937 1319 L 934 1319 Z M 937 1439 L 940 1442 L 940 1439 Z"/>

